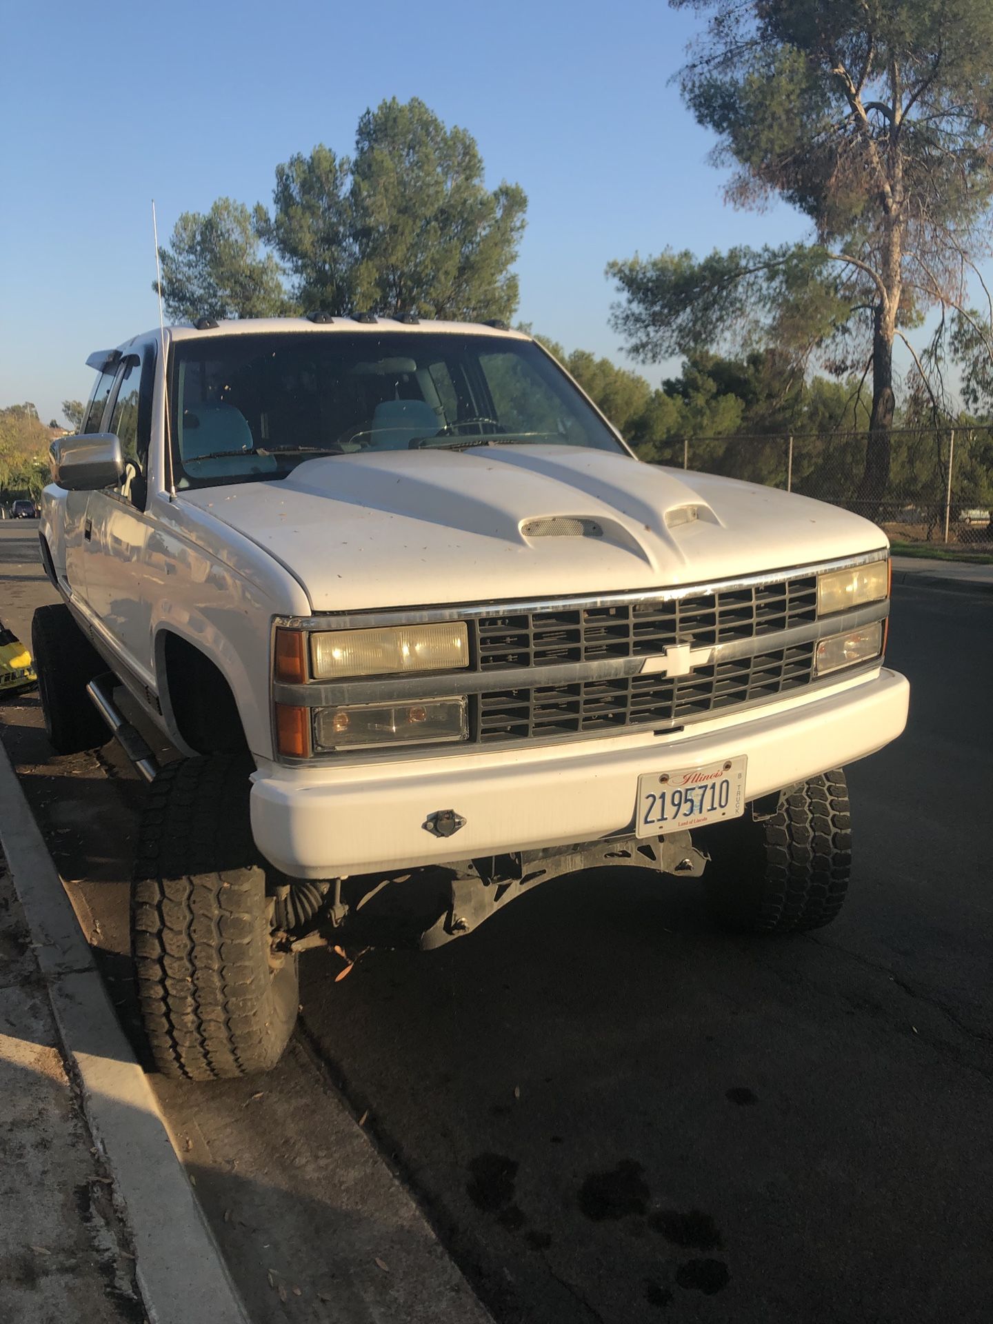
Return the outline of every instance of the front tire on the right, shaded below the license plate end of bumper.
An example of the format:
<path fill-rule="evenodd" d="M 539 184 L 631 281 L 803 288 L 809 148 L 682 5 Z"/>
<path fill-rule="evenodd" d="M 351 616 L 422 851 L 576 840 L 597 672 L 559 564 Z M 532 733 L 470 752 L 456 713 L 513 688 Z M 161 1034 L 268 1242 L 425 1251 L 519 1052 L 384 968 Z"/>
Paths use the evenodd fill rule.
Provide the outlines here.
<path fill-rule="evenodd" d="M 703 875 L 715 919 L 745 933 L 822 928 L 845 903 L 851 817 L 842 769 L 781 790 L 769 818 L 716 829 Z"/>

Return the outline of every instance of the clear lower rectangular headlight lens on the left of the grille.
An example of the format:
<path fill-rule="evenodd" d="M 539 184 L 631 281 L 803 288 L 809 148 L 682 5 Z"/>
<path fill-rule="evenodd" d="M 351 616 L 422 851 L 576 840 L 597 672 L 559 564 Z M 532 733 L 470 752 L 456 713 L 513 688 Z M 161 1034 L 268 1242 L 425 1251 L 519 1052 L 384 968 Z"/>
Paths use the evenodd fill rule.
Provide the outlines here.
<path fill-rule="evenodd" d="M 319 749 L 372 749 L 467 737 L 465 695 L 314 710 L 314 741 Z"/>

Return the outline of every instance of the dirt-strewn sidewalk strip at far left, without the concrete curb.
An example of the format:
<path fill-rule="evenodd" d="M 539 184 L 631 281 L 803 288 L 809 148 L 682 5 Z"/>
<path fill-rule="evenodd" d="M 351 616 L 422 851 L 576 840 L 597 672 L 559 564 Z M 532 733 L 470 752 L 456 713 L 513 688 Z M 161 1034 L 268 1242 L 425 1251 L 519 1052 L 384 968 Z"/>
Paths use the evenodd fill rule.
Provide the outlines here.
<path fill-rule="evenodd" d="M 134 1253 L 58 1045 L 0 857 L 0 1319 L 135 1324 Z"/>

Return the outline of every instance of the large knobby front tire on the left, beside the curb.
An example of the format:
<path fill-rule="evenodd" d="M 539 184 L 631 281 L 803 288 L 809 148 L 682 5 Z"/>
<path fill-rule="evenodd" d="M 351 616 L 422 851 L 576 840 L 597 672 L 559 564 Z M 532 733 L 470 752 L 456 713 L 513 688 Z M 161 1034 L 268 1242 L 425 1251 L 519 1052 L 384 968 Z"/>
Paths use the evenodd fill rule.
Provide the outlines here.
<path fill-rule="evenodd" d="M 244 755 L 167 764 L 148 788 L 131 903 L 138 998 L 160 1071 L 269 1071 L 293 1033 L 297 957 L 273 953 Z"/>

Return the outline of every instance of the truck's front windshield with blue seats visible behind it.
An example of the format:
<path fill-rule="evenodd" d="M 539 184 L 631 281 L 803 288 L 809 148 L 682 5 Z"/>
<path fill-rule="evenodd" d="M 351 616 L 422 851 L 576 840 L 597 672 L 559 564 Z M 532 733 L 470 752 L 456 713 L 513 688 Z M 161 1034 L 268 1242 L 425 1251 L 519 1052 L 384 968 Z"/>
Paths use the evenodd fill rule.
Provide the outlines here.
<path fill-rule="evenodd" d="M 177 487 L 283 478 L 315 455 L 485 445 L 624 453 L 534 342 L 347 331 L 180 340 Z"/>

